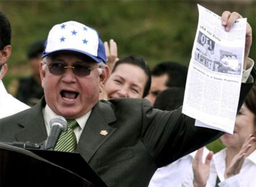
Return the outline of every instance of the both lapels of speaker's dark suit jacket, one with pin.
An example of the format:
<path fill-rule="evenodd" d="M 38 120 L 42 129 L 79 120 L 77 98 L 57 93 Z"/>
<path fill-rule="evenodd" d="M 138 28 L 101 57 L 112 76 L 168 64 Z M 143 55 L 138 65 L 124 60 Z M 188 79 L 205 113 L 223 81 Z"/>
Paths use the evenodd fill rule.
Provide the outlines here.
<path fill-rule="evenodd" d="M 44 98 L 28 109 L 28 112 L 19 120 L 19 125 L 22 125 L 23 129 L 17 132 L 17 141 L 41 143 L 46 140 L 43 106 L 45 106 Z M 114 133 L 116 129 L 108 125 L 114 121 L 116 116 L 108 101 L 98 102 L 90 114 L 76 149 L 85 161 L 89 162 L 97 149 Z"/>

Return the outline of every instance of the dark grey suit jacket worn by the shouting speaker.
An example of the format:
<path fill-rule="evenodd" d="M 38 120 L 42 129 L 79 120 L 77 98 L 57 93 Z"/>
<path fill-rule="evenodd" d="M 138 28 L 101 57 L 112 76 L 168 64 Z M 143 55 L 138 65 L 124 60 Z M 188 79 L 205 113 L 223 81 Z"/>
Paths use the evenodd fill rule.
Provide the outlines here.
<path fill-rule="evenodd" d="M 241 90 L 241 101 L 252 84 Z M 0 120 L 1 141 L 46 140 L 42 107 Z M 76 151 L 110 186 L 147 186 L 158 167 L 198 149 L 223 133 L 195 127 L 195 120 L 176 111 L 153 109 L 147 100 L 101 100 L 92 110 Z M 106 130 L 107 135 L 101 135 Z"/>

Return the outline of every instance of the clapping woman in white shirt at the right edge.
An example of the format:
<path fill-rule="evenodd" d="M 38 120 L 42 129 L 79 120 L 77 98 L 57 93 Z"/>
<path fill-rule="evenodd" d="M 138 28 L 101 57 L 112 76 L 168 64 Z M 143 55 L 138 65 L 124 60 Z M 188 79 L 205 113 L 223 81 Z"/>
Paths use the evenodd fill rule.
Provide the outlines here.
<path fill-rule="evenodd" d="M 202 150 L 194 159 L 193 175 L 184 186 L 246 186 L 256 184 L 256 85 L 247 95 L 236 117 L 234 133 L 220 137 L 226 146 L 213 155 L 211 163 L 203 164 Z"/>

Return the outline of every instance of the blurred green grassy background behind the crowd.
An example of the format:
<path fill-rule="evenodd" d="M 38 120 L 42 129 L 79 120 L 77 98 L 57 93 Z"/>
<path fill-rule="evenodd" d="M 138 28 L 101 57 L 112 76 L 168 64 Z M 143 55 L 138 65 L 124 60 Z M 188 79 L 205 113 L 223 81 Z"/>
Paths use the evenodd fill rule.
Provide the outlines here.
<path fill-rule="evenodd" d="M 75 20 L 95 28 L 102 41 L 114 39 L 118 56 L 141 55 L 150 67 L 171 60 L 189 64 L 200 4 L 218 15 L 239 12 L 253 28 L 250 57 L 256 59 L 256 1 L 0 1 L 12 26 L 12 55 L 4 84 L 31 74 L 28 46 L 46 39 L 57 23 Z M 220 146 L 220 147 L 219 147 Z M 213 149 L 221 148 L 215 143 Z"/>

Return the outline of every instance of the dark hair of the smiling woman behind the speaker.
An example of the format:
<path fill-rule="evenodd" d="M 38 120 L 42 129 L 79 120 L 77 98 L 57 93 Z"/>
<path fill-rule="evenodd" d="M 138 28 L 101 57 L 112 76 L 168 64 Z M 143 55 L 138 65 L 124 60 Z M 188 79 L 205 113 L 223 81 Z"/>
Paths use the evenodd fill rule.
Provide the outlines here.
<path fill-rule="evenodd" d="M 151 73 L 150 73 L 150 68 L 148 66 L 148 63 L 145 62 L 145 60 L 142 57 L 130 55 L 128 57 L 122 58 L 121 60 L 118 60 L 116 62 L 116 64 L 114 65 L 112 73 L 114 73 L 117 66 L 124 64 L 124 63 L 140 67 L 147 75 L 147 80 L 146 80 L 145 88 L 143 90 L 142 98 L 146 97 L 148 95 L 148 92 L 149 92 L 150 86 L 151 86 Z M 130 74 L 130 76 L 132 76 L 132 73 Z"/>

